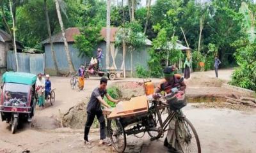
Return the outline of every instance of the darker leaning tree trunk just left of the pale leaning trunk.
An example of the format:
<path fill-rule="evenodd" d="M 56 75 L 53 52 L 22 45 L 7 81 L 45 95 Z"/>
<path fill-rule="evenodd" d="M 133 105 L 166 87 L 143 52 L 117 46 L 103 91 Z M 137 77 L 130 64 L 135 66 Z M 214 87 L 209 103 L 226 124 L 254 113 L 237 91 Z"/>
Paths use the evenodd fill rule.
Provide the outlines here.
<path fill-rule="evenodd" d="M 54 62 L 54 68 L 56 70 L 56 75 L 60 75 L 60 71 L 59 71 L 59 68 L 58 68 L 58 65 L 57 65 L 57 59 L 56 59 L 56 55 L 55 55 L 54 48 L 53 48 L 53 43 L 52 43 L 52 34 L 51 34 L 51 26 L 50 26 L 48 9 L 47 9 L 47 0 L 44 0 L 44 11 L 45 11 L 45 18 L 46 18 L 46 22 L 47 22 L 49 40 L 50 40 L 50 43 L 51 43 L 52 60 Z"/>

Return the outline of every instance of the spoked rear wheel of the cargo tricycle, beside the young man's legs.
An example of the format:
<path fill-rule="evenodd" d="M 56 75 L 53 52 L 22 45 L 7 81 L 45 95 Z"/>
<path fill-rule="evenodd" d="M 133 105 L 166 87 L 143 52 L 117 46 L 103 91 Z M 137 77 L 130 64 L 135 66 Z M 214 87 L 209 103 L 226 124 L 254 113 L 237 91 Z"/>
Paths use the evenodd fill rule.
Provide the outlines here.
<path fill-rule="evenodd" d="M 124 152 L 126 148 L 126 135 L 120 120 L 108 120 L 108 133 L 111 144 L 116 152 Z"/>

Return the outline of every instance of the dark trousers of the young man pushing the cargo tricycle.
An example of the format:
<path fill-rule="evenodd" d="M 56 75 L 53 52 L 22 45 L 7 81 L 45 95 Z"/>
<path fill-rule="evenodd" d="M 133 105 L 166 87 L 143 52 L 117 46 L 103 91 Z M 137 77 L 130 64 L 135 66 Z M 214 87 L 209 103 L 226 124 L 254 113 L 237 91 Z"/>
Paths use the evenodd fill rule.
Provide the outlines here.
<path fill-rule="evenodd" d="M 90 112 L 87 112 L 87 120 L 84 127 L 84 140 L 86 141 L 88 141 L 88 134 L 92 126 L 93 120 L 95 118 L 95 115 L 97 116 L 97 119 L 99 120 L 99 123 L 100 123 L 100 140 L 104 140 L 106 138 L 106 133 L 105 133 L 106 124 L 105 124 L 105 119 L 102 111 L 101 110 L 90 111 Z"/>

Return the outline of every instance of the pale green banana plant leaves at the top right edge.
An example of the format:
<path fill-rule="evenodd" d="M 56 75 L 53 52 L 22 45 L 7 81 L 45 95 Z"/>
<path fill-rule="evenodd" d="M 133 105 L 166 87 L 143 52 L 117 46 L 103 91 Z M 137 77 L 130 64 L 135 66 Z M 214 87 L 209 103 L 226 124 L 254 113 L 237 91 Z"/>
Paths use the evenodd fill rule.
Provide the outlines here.
<path fill-rule="evenodd" d="M 255 14 L 248 8 L 248 4 L 243 2 L 239 12 L 243 14 L 243 25 L 246 28 L 246 33 L 248 34 L 248 39 L 250 43 L 255 42 Z"/>

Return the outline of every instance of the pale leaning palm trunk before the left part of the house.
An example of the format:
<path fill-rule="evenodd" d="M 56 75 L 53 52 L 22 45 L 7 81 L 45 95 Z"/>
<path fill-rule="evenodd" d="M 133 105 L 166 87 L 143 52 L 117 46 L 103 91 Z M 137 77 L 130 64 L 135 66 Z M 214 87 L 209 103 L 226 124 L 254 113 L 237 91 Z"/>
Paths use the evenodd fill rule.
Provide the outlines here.
<path fill-rule="evenodd" d="M 54 0 L 54 1 L 55 1 L 55 4 L 56 4 L 56 11 L 57 11 L 58 19 L 59 19 L 59 22 L 60 22 L 61 34 L 62 34 L 63 41 L 64 41 L 65 52 L 66 52 L 66 55 L 67 55 L 69 72 L 73 73 L 73 72 L 75 72 L 75 69 L 74 69 L 74 65 L 72 63 L 72 59 L 70 57 L 70 52 L 68 50 L 68 43 L 67 43 L 67 40 L 66 40 L 65 31 L 64 31 L 64 25 L 63 25 L 61 13 L 60 13 L 59 0 Z"/>

